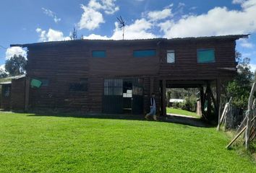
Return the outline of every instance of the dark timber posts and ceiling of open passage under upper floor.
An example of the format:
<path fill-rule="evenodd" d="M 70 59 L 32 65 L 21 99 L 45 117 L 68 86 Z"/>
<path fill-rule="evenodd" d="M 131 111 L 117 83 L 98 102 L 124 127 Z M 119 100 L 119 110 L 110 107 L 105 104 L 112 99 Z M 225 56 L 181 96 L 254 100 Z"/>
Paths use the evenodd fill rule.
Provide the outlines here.
<path fill-rule="evenodd" d="M 202 119 L 218 121 L 219 105 L 221 97 L 221 80 L 170 80 L 159 79 L 159 114 L 166 116 L 166 89 L 172 88 L 197 88 L 199 90 L 200 113 Z M 198 106 L 198 105 L 197 105 Z"/>

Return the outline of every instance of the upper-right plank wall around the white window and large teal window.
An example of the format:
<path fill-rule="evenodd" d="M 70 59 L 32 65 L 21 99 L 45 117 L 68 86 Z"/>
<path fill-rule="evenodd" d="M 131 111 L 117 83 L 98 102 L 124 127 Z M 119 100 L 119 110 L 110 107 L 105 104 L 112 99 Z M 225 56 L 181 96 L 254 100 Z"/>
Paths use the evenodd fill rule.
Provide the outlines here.
<path fill-rule="evenodd" d="M 214 48 L 216 63 L 197 63 L 197 48 Z M 175 63 L 166 63 L 166 50 L 175 50 Z M 233 77 L 234 71 L 220 68 L 236 68 L 235 42 L 201 41 L 166 43 L 161 47 L 159 75 L 171 80 L 213 80 L 219 76 Z"/>

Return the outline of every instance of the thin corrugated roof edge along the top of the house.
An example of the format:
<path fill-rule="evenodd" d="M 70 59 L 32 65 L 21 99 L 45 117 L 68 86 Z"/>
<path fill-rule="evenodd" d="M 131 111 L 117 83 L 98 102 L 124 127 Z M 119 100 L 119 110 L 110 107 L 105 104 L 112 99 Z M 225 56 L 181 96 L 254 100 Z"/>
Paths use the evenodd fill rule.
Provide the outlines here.
<path fill-rule="evenodd" d="M 13 44 L 11 47 L 30 47 L 40 45 L 59 45 L 59 44 L 72 44 L 72 43 L 140 43 L 140 42 L 156 42 L 158 41 L 189 41 L 189 40 L 238 40 L 239 38 L 248 38 L 249 35 L 219 35 L 219 36 L 208 36 L 208 37 L 176 37 L 176 38 L 152 38 L 152 39 L 137 39 L 137 40 L 64 40 L 54 42 L 42 42 L 42 43 L 30 43 L 30 44 Z"/>

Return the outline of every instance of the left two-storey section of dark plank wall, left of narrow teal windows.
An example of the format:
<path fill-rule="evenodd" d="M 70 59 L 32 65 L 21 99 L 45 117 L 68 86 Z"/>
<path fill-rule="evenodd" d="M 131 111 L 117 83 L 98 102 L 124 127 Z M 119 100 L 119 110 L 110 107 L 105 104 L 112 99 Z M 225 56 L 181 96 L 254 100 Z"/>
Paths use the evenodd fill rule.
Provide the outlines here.
<path fill-rule="evenodd" d="M 30 58 L 31 57 L 31 58 Z M 27 75 L 48 79 L 48 86 L 30 89 L 32 107 L 88 110 L 88 91 L 69 91 L 69 84 L 88 79 L 88 50 L 80 46 L 31 49 Z"/>

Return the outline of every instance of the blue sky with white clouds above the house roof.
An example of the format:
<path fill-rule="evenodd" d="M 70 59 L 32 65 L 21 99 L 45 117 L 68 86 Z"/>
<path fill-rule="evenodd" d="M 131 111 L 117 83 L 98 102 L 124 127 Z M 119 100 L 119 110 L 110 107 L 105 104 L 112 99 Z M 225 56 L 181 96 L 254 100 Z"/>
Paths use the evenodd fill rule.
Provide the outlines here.
<path fill-rule="evenodd" d="M 251 34 L 236 49 L 256 68 L 256 0 L 2 0 L 0 64 L 25 55 L 10 44 L 69 40 L 73 27 L 87 39 L 119 40 L 119 16 L 125 39 Z"/>

